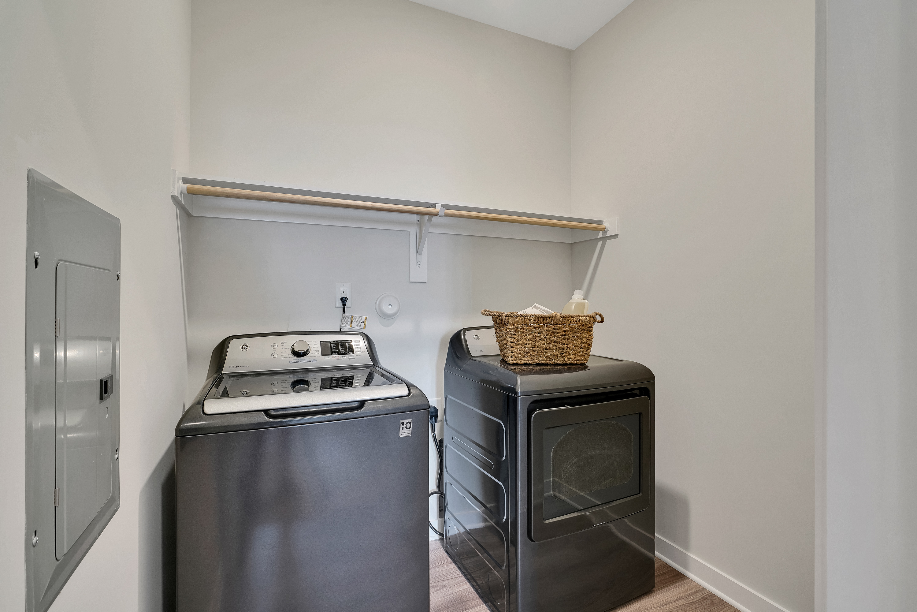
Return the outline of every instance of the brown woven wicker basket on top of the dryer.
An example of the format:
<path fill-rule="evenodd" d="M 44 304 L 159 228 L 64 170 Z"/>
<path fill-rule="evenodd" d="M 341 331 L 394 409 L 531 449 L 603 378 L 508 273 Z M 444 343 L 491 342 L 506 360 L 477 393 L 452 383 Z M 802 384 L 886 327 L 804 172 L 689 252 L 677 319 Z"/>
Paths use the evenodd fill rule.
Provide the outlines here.
<path fill-rule="evenodd" d="M 500 355 L 507 363 L 585 363 L 592 351 L 592 326 L 603 323 L 591 315 L 526 315 L 481 310 L 493 318 Z"/>

